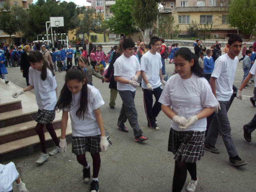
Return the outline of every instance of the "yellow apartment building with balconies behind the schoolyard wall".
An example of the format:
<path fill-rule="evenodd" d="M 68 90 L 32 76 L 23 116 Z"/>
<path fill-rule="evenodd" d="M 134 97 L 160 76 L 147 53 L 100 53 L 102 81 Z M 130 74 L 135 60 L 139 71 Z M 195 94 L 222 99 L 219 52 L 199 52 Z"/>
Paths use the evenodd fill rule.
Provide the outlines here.
<path fill-rule="evenodd" d="M 212 24 L 212 32 L 220 34 L 236 33 L 236 28 L 228 25 L 225 12 L 226 0 L 164 0 L 162 14 L 167 12 L 174 17 L 174 25 L 180 25 L 181 32 L 186 32 L 192 21 L 197 24 Z M 170 9 L 170 10 L 169 10 Z"/>

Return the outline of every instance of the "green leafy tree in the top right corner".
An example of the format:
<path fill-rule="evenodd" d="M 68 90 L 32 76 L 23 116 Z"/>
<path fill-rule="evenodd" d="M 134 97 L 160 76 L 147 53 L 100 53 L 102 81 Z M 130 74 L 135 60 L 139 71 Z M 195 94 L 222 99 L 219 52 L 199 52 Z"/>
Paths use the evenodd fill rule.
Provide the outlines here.
<path fill-rule="evenodd" d="M 234 27 L 245 34 L 256 33 L 256 1 L 232 0 L 228 6 L 229 27 Z"/>

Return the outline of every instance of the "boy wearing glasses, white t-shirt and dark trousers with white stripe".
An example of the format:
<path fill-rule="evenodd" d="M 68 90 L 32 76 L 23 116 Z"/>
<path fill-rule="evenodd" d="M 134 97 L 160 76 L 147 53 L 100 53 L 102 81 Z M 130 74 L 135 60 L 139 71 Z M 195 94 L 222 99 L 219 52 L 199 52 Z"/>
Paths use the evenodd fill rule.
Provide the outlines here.
<path fill-rule="evenodd" d="M 152 128 L 153 130 L 159 130 L 159 127 L 156 125 L 156 117 L 162 109 L 161 103 L 158 102 L 158 100 L 163 91 L 161 82 L 163 84 L 166 83 L 162 77 L 161 55 L 158 54 L 160 49 L 160 38 L 152 37 L 150 39 L 150 51 L 146 52 L 142 56 L 140 66 L 144 108 L 148 120 L 148 127 Z M 153 94 L 156 98 L 156 102 L 152 107 Z"/>

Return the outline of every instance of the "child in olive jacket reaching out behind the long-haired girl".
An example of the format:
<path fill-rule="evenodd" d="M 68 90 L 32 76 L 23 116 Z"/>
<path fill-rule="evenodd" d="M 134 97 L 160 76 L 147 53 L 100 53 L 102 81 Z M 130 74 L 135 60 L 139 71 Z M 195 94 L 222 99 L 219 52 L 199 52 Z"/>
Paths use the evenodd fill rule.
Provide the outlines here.
<path fill-rule="evenodd" d="M 98 74 L 92 66 L 90 66 L 90 62 L 88 58 L 86 57 L 80 57 L 78 58 L 78 65 L 84 70 L 85 76 L 86 76 L 86 82 L 89 85 L 92 85 L 92 75 L 96 76 L 99 79 L 102 79 L 104 81 L 107 81 L 108 79 L 104 76 Z M 93 85 L 92 85 L 93 86 Z"/>

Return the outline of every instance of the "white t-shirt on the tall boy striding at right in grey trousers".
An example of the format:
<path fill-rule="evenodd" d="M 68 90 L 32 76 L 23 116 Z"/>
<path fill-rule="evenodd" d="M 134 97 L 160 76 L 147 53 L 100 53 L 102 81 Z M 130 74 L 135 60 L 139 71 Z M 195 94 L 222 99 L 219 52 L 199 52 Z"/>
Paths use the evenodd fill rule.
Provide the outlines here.
<path fill-rule="evenodd" d="M 238 58 L 231 59 L 228 54 L 220 56 L 214 66 L 212 77 L 216 77 L 216 96 L 219 101 L 229 101 L 233 94 L 233 83 Z"/>

